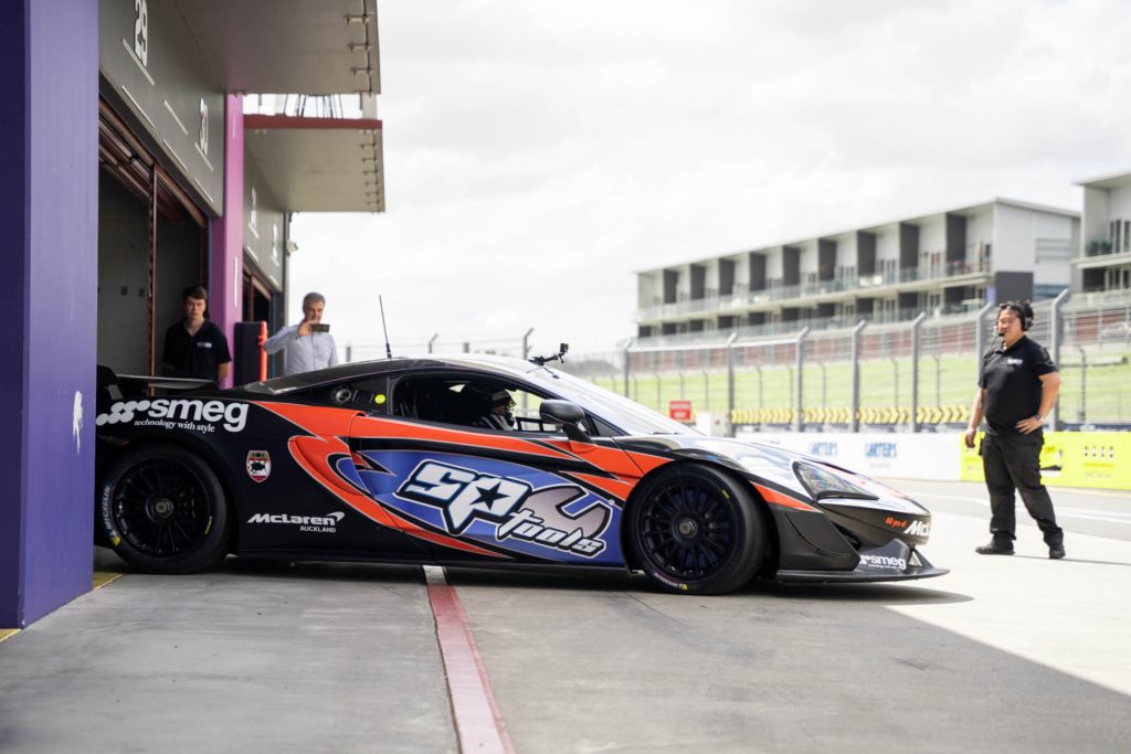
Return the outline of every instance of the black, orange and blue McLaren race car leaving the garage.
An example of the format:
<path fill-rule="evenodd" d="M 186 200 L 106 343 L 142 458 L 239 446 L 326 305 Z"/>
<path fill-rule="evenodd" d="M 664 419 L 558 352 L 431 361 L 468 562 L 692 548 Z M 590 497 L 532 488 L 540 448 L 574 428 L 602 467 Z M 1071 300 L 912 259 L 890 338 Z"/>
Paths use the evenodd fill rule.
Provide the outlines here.
<path fill-rule="evenodd" d="M 158 573 L 228 554 L 627 569 L 703 595 L 946 573 L 906 495 L 546 361 L 390 357 L 227 390 L 100 367 L 96 538 Z"/>

